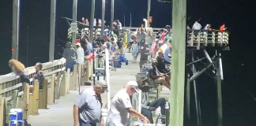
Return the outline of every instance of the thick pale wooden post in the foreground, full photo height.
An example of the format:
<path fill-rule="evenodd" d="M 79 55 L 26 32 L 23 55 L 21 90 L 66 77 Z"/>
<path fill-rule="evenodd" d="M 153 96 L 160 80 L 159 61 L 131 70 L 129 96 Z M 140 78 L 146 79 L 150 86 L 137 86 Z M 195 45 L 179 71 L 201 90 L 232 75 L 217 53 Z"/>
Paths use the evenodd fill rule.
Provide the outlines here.
<path fill-rule="evenodd" d="M 186 62 L 186 0 L 173 0 L 170 125 L 183 126 Z"/>

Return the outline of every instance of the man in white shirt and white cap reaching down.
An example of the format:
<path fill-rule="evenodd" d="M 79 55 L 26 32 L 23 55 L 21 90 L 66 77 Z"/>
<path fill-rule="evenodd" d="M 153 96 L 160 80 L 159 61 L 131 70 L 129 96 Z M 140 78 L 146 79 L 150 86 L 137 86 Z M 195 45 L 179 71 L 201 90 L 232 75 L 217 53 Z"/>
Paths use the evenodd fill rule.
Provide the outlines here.
<path fill-rule="evenodd" d="M 134 117 L 140 117 L 147 123 L 150 121 L 132 108 L 130 103 L 130 95 L 138 92 L 136 81 L 129 81 L 125 88 L 120 90 L 111 101 L 111 108 L 107 114 L 107 126 L 126 126 L 129 118 L 129 113 Z"/>

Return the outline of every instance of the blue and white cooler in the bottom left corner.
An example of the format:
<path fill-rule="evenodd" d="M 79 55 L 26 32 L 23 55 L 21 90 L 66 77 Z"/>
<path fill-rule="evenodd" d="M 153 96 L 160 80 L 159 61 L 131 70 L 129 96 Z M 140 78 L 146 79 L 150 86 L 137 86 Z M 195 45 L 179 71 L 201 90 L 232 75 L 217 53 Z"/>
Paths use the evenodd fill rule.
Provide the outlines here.
<path fill-rule="evenodd" d="M 10 109 L 9 126 L 23 126 L 22 109 Z"/>

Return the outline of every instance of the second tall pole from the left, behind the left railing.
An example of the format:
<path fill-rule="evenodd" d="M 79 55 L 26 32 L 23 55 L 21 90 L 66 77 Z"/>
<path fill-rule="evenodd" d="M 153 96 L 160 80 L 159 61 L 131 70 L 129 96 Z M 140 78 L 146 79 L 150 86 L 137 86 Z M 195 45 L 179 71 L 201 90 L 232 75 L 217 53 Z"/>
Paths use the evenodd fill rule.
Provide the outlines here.
<path fill-rule="evenodd" d="M 56 12 L 56 0 L 51 0 L 49 61 L 55 60 L 55 12 Z"/>

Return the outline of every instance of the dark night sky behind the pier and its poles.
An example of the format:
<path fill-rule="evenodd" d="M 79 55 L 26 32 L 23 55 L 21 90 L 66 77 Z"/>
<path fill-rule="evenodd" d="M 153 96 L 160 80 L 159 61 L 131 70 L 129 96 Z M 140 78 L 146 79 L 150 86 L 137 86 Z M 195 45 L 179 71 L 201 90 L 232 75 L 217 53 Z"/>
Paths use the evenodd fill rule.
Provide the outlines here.
<path fill-rule="evenodd" d="M 132 13 L 133 27 L 138 27 L 146 17 L 147 0 L 115 0 L 115 19 L 126 26 L 130 25 Z M 12 0 L 0 0 L 0 75 L 10 72 L 7 62 L 11 58 L 12 43 Z M 36 62 L 48 61 L 50 39 L 50 0 L 21 0 L 20 50 L 19 60 L 25 66 Z M 255 2 L 252 0 L 194 0 L 187 4 L 187 24 L 192 27 L 195 20 L 200 20 L 202 27 L 212 24 L 218 29 L 226 24 L 231 32 L 230 51 L 222 53 L 224 68 L 223 113 L 226 126 L 256 125 L 256 83 L 255 83 Z M 89 18 L 91 10 L 89 0 L 78 0 L 77 20 Z M 72 18 L 72 0 L 57 0 L 55 59 L 61 57 L 66 41 L 68 24 L 61 17 Z M 254 9 L 253 9 L 254 8 Z M 106 20 L 110 21 L 111 0 L 106 3 Z M 101 0 L 96 0 L 96 18 L 101 17 Z M 171 24 L 171 4 L 166 5 L 152 0 L 150 16 L 153 17 L 152 27 L 164 28 Z M 27 40 L 28 39 L 28 40 Z M 27 51 L 28 49 L 28 51 Z M 211 53 L 211 52 L 210 52 Z M 28 54 L 28 56 L 27 56 Z M 201 99 L 201 117 L 203 125 L 217 125 L 216 83 L 209 76 L 198 78 L 199 97 Z M 191 102 L 194 104 L 194 102 Z M 191 105 L 193 106 L 193 105 Z M 194 108 L 191 108 L 194 109 Z M 192 110 L 192 123 L 195 125 L 196 114 Z"/>

